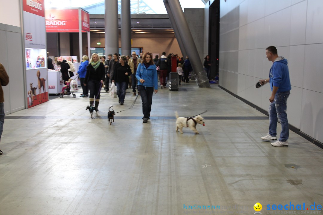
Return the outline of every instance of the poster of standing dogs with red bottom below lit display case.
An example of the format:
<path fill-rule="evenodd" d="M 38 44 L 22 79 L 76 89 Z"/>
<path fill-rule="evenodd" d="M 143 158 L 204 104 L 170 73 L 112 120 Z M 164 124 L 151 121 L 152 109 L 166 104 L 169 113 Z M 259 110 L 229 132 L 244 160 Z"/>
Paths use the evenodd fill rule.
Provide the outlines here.
<path fill-rule="evenodd" d="M 47 68 L 26 71 L 28 108 L 48 101 Z"/>

